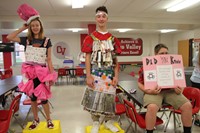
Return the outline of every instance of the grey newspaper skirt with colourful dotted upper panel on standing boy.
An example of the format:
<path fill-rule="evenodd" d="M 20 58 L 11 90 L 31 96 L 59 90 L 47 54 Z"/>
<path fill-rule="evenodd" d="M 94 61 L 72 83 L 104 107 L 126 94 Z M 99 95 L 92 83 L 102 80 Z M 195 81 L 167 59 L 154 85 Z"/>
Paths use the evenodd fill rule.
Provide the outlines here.
<path fill-rule="evenodd" d="M 115 93 L 112 71 L 93 70 L 94 88 L 86 87 L 81 104 L 95 115 L 115 115 Z"/>

